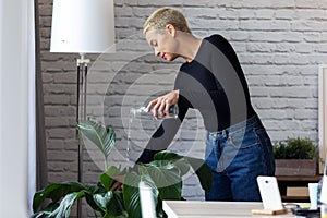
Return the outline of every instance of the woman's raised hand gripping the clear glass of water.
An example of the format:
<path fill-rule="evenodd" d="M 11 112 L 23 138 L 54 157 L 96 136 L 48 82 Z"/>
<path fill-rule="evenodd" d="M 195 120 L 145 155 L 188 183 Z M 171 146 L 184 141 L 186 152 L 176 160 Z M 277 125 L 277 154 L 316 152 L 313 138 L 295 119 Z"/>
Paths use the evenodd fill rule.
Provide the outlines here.
<path fill-rule="evenodd" d="M 154 117 L 158 119 L 158 113 L 160 117 L 165 118 L 165 114 L 169 114 L 169 108 L 172 105 L 178 104 L 180 96 L 180 90 L 172 90 L 164 96 L 160 96 L 152 101 L 146 107 L 146 111 L 150 111 L 153 109 Z"/>

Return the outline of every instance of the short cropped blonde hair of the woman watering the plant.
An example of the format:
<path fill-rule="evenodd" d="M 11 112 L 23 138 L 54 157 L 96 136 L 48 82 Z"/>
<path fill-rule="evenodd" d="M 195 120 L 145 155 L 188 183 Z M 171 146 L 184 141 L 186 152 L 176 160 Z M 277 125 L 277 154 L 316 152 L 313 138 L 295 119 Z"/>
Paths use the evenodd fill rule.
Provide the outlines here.
<path fill-rule="evenodd" d="M 149 28 L 157 31 L 165 29 L 168 24 L 172 24 L 177 29 L 191 34 L 185 16 L 177 9 L 164 7 L 157 9 L 144 23 L 143 33 Z"/>

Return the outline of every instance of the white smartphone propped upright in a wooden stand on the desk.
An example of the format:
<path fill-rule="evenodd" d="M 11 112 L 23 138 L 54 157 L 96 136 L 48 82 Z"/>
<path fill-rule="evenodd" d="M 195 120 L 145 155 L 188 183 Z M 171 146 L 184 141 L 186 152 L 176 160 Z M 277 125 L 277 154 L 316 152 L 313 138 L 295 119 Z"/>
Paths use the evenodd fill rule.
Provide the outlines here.
<path fill-rule="evenodd" d="M 265 209 L 283 209 L 278 183 L 275 177 L 257 177 L 263 205 Z"/>

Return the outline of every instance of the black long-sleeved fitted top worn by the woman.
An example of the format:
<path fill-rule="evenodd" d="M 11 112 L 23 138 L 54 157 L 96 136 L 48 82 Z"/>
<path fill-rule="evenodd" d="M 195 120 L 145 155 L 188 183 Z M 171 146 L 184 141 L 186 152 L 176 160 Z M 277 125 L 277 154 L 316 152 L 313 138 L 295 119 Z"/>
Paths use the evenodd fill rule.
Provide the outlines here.
<path fill-rule="evenodd" d="M 174 89 L 180 90 L 179 119 L 162 121 L 137 162 L 149 162 L 158 150 L 169 146 L 189 108 L 201 112 L 209 132 L 223 130 L 255 114 L 238 57 L 220 35 L 204 38 L 194 60 L 181 65 Z"/>

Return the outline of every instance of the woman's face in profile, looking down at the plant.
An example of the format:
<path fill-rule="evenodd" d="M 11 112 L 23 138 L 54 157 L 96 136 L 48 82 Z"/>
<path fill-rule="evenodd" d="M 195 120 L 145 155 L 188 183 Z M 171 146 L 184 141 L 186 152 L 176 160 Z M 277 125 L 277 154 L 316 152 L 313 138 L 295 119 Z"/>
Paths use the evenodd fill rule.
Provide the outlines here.
<path fill-rule="evenodd" d="M 161 57 L 167 61 L 173 61 L 177 55 L 177 40 L 172 33 L 167 31 L 149 29 L 145 34 L 149 46 L 154 48 L 155 56 Z"/>

